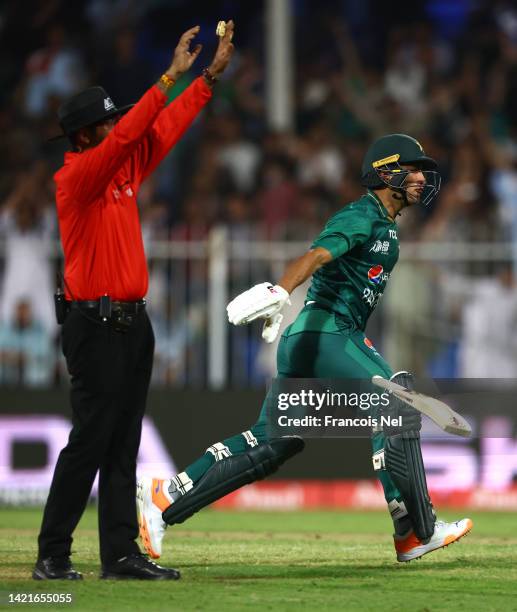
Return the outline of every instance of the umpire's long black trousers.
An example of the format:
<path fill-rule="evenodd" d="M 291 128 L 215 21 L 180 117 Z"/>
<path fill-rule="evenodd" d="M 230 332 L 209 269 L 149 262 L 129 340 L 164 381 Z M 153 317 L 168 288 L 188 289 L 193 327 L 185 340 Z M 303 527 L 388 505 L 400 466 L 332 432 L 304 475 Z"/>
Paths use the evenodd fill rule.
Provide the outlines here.
<path fill-rule="evenodd" d="M 55 467 L 38 538 L 39 558 L 71 553 L 72 533 L 99 472 L 100 557 L 108 565 L 139 551 L 136 459 L 154 334 L 145 311 L 125 333 L 87 312 L 94 321 L 72 310 L 62 329 L 73 428 Z"/>

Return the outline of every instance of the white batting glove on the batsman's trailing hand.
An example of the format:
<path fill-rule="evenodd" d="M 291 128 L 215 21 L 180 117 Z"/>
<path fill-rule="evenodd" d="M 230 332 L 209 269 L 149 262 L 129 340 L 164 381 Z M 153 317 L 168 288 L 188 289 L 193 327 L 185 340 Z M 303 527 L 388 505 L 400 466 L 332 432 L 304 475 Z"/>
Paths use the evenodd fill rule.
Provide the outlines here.
<path fill-rule="evenodd" d="M 270 319 L 278 314 L 285 304 L 291 302 L 289 294 L 283 287 L 260 283 L 244 291 L 228 304 L 226 307 L 228 321 L 233 325 L 246 325 L 255 319 Z"/>

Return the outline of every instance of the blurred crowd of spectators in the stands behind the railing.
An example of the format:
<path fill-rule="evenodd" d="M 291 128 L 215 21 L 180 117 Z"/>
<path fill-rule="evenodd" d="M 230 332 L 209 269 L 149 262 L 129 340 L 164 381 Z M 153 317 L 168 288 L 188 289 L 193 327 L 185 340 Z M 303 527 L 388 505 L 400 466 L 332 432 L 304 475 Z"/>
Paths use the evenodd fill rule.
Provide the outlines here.
<path fill-rule="evenodd" d="M 220 226 L 239 244 L 308 246 L 363 192 L 369 141 L 409 133 L 438 160 L 443 186 L 434 205 L 403 214 L 399 236 L 437 251 L 470 246 L 462 259 L 403 261 L 372 337 L 395 367 L 420 374 L 517 377 L 515 3 L 293 0 L 295 128 L 281 133 L 266 122 L 264 3 L 190 4 L 0 8 L 0 383 L 66 380 L 51 297 L 62 266 L 52 175 L 67 148 L 48 142 L 59 133 L 57 107 L 91 84 L 117 105 L 134 102 L 168 65 L 181 32 L 199 23 L 205 48 L 178 95 L 210 61 L 215 24 L 229 17 L 237 27 L 231 70 L 141 190 L 149 253 L 156 241 L 197 244 Z M 501 253 L 502 244 L 514 246 Z M 187 251 L 150 258 L 156 384 L 206 382 L 207 264 Z M 229 291 L 273 280 L 277 270 L 268 259 L 232 258 Z M 256 330 L 232 334 L 231 384 L 260 384 L 271 356 L 261 355 Z"/>

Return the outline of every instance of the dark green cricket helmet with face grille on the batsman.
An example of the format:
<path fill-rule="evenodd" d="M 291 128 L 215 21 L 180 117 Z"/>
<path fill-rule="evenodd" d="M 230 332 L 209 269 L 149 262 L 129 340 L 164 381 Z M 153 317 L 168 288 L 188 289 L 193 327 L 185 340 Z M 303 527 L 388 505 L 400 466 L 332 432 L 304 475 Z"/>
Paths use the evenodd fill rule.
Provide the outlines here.
<path fill-rule="evenodd" d="M 427 157 L 422 145 L 407 134 L 388 134 L 376 140 L 363 159 L 361 184 L 369 189 L 390 187 L 405 195 L 408 170 L 404 165 L 418 167 L 426 180 L 422 203 L 429 204 L 440 190 L 437 163 Z"/>

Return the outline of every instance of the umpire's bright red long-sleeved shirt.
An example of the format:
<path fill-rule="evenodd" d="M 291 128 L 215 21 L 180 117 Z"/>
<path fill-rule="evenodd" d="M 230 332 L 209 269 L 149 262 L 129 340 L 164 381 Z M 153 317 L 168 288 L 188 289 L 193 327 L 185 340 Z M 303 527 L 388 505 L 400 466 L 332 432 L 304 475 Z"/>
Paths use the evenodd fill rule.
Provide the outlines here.
<path fill-rule="evenodd" d="M 148 273 L 136 194 L 211 95 L 198 78 L 165 107 L 167 97 L 153 86 L 101 144 L 65 155 L 54 180 L 67 299 L 145 296 Z"/>

